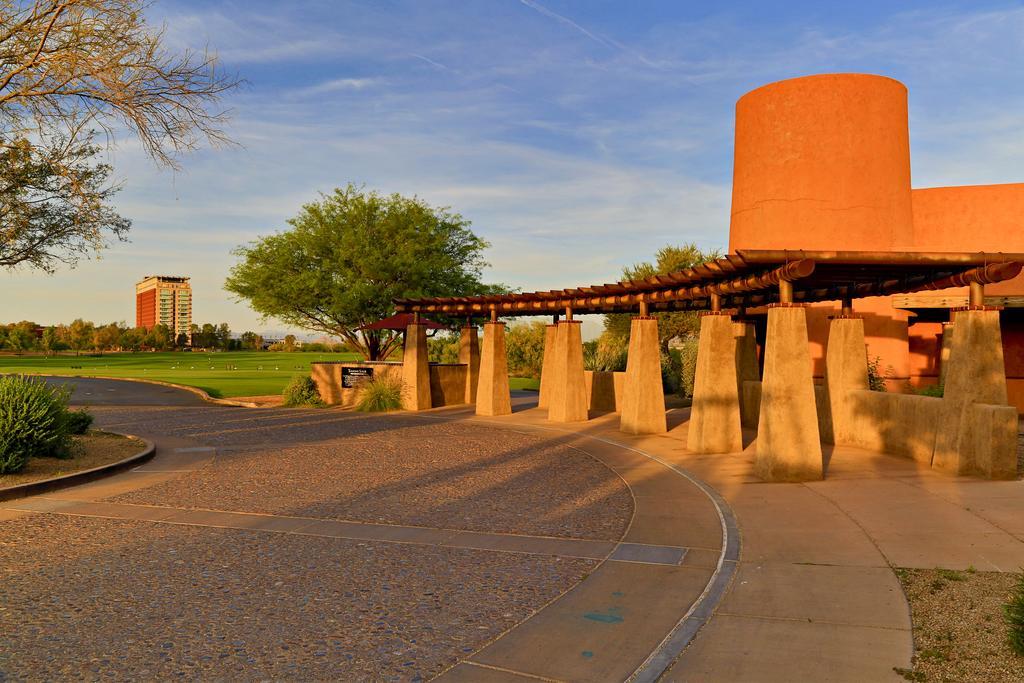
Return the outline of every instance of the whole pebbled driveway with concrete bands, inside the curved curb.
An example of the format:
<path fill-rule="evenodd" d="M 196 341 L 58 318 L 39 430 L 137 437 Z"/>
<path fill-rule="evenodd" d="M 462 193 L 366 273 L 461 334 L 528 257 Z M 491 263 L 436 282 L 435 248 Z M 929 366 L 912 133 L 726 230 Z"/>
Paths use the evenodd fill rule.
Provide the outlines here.
<path fill-rule="evenodd" d="M 15 676 L 112 671 L 116 655 L 90 639 L 99 631 L 130 643 L 122 655 L 128 659 L 115 670 L 157 677 L 180 669 L 199 677 L 413 680 L 458 665 L 447 677 L 521 679 L 540 667 L 542 676 L 565 680 L 623 680 L 638 671 L 650 680 L 703 624 L 734 569 L 723 561 L 727 506 L 714 492 L 601 439 L 526 425 L 496 430 L 459 415 L 438 421 L 251 411 L 191 407 L 184 397 L 181 405 L 156 408 L 144 396 L 146 405 L 138 408 L 118 391 L 120 383 L 83 384 L 77 400 L 108 404 L 93 409 L 101 426 L 156 440 L 158 455 L 133 471 L 0 508 L 9 522 L 0 528 L 0 559 L 4 542 L 17 547 L 17 557 L 31 558 L 4 569 L 5 585 L 25 596 L 24 605 L 12 600 L 0 613 L 0 631 L 10 634 L 0 650 L 22 652 L 16 663 L 0 655 L 0 671 Z M 520 408 L 526 396 L 518 397 Z M 375 459 L 392 465 L 375 468 Z M 368 463 L 371 471 L 359 471 L 357 464 Z M 339 467 L 351 469 L 339 473 Z M 393 471 L 402 468 L 411 470 Z M 733 526 L 733 558 L 736 538 Z M 61 550 L 51 567 L 54 542 Z M 276 559 L 272 549 L 286 543 L 288 557 Z M 324 543 L 348 545 L 325 555 Z M 341 580 L 360 598 L 354 604 L 344 596 L 328 600 L 315 618 L 301 608 L 263 614 L 256 630 L 222 612 L 227 600 L 238 614 L 260 614 L 270 595 L 259 592 L 267 577 L 319 572 L 360 547 L 378 549 L 385 561 L 368 577 L 350 559 L 304 595 L 323 600 L 324 589 Z M 273 562 L 220 565 L 222 555 L 265 552 Z M 211 562 L 219 568 L 207 575 L 203 566 Z M 91 580 L 65 585 L 54 571 Z M 420 584 L 417 575 L 438 585 Z M 284 583 L 278 589 L 284 591 L 294 581 L 273 586 Z M 223 582 L 237 588 L 211 596 Z M 410 624 L 426 623 L 429 632 L 381 645 L 373 625 L 356 625 L 333 648 L 318 644 L 325 624 L 361 614 L 365 602 L 404 585 L 444 595 L 444 610 L 425 615 L 422 595 L 406 596 L 374 628 L 415 631 Z M 46 592 L 59 609 L 36 608 Z M 195 612 L 177 628 L 169 632 L 140 604 L 125 621 L 126 600 L 159 602 L 158 593 L 168 592 L 179 608 Z M 477 627 L 468 616 L 473 611 L 492 621 Z M 103 629 L 95 629 L 100 622 Z M 196 637 L 217 629 L 233 634 L 225 637 L 234 638 L 237 652 Z M 562 635 L 552 638 L 552 629 Z M 48 649 L 56 653 L 49 659 L 25 641 L 36 631 L 50 634 Z M 268 650 L 282 632 L 313 644 L 296 643 L 290 654 Z M 519 639 L 531 641 L 528 650 Z M 156 642 L 166 649 L 144 645 Z M 323 668 L 310 668 L 317 657 Z M 38 668 L 19 668 L 26 663 Z"/>

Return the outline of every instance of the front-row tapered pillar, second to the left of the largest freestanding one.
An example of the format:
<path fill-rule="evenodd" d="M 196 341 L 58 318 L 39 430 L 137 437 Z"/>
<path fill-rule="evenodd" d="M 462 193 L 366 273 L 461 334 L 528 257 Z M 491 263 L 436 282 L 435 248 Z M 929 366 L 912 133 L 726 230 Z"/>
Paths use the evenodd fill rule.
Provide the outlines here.
<path fill-rule="evenodd" d="M 630 324 L 621 413 L 618 428 L 628 434 L 662 434 L 668 429 L 656 317 L 638 315 Z"/>

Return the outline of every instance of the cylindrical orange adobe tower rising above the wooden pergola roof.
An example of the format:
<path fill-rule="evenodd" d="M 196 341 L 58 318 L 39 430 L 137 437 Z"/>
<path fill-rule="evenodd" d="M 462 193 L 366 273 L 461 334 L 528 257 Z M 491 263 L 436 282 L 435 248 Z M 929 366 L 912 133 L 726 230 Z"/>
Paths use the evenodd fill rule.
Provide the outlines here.
<path fill-rule="evenodd" d="M 912 240 L 906 87 L 779 81 L 736 102 L 729 251 L 890 251 Z"/>

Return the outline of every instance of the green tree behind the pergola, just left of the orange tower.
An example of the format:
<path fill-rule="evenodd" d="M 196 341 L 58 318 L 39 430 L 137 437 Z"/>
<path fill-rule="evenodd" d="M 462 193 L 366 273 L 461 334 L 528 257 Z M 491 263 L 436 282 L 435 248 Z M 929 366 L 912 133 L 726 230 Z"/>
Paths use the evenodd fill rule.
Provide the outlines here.
<path fill-rule="evenodd" d="M 637 263 L 623 269 L 625 280 L 643 280 L 651 275 L 664 275 L 676 270 L 682 270 L 721 256 L 718 250 L 700 251 L 693 243 L 679 247 L 668 245 L 654 255 L 654 262 Z M 630 336 L 631 313 L 609 313 L 604 316 L 605 331 L 615 337 L 628 339 Z M 657 318 L 657 336 L 663 352 L 669 350 L 669 340 L 675 337 L 686 338 L 697 334 L 700 330 L 697 313 L 691 311 L 674 311 L 654 313 Z"/>

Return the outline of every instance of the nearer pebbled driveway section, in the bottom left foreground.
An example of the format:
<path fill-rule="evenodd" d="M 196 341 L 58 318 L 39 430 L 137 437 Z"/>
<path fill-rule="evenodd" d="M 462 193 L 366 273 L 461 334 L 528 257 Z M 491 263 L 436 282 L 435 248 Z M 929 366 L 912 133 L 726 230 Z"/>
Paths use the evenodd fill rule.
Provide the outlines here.
<path fill-rule="evenodd" d="M 423 680 L 594 565 L 33 515 L 0 525 L 0 680 Z"/>

